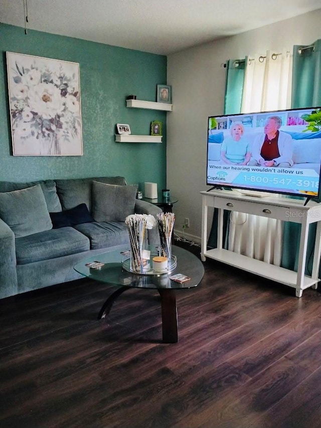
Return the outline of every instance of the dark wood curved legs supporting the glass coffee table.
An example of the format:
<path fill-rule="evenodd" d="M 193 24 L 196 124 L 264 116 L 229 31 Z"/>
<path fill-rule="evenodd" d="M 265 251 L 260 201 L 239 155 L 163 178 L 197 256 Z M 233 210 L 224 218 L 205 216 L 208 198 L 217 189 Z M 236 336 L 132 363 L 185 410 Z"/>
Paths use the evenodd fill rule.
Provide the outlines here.
<path fill-rule="evenodd" d="M 99 311 L 99 320 L 101 318 L 105 318 L 109 314 L 117 297 L 119 297 L 126 290 L 132 290 L 132 287 L 120 287 L 108 297 Z M 163 342 L 177 343 L 179 338 L 175 290 L 168 288 L 157 290 L 161 296 Z"/>

